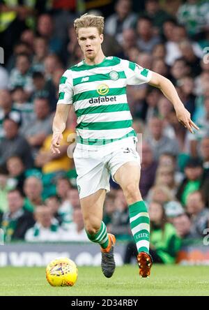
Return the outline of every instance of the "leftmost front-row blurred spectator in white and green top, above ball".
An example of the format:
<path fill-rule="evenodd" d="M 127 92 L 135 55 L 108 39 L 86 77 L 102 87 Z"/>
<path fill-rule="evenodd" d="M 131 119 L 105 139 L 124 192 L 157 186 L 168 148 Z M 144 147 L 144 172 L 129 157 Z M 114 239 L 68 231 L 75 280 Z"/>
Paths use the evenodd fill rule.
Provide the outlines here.
<path fill-rule="evenodd" d="M 25 240 L 28 242 L 60 241 L 63 229 L 52 216 L 52 211 L 45 205 L 38 205 L 34 212 L 36 223 L 26 231 Z"/>

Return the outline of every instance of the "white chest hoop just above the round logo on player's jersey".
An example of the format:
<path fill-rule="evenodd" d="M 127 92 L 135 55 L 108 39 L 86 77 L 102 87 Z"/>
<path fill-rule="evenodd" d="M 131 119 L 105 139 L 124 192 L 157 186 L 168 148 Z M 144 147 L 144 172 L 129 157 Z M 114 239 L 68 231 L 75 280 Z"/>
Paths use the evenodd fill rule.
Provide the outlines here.
<path fill-rule="evenodd" d="M 126 86 L 126 79 L 118 79 L 116 81 L 99 80 L 99 81 L 86 82 L 86 83 L 82 82 L 80 84 L 75 85 L 75 87 L 73 88 L 73 94 L 77 95 L 77 94 L 82 93 L 83 91 L 95 91 L 100 84 L 106 84 L 109 88 L 121 88 L 121 87 Z"/>

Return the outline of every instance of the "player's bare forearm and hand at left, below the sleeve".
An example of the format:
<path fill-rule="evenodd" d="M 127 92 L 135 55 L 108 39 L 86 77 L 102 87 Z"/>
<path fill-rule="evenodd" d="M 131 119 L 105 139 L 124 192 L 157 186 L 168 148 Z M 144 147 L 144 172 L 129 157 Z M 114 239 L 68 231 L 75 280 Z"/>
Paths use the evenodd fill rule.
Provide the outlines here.
<path fill-rule="evenodd" d="M 65 130 L 65 125 L 71 106 L 72 105 L 65 105 L 61 103 L 56 107 L 56 113 L 52 126 L 53 135 L 51 142 L 51 151 L 53 154 L 60 154 L 60 142 L 63 139 L 63 131 Z"/>

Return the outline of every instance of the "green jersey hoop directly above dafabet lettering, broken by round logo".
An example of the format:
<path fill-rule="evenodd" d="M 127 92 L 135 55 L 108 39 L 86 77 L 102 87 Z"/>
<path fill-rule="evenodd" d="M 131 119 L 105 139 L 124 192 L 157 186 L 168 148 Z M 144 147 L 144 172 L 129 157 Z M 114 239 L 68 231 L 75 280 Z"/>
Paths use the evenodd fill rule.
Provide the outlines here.
<path fill-rule="evenodd" d="M 124 95 L 126 94 L 126 87 L 121 88 L 109 88 L 109 91 L 105 96 L 118 96 L 118 95 Z M 79 93 L 72 97 L 73 103 L 75 103 L 78 100 L 85 100 L 89 98 L 97 98 L 103 95 L 100 95 L 98 91 L 83 91 L 82 93 Z"/>

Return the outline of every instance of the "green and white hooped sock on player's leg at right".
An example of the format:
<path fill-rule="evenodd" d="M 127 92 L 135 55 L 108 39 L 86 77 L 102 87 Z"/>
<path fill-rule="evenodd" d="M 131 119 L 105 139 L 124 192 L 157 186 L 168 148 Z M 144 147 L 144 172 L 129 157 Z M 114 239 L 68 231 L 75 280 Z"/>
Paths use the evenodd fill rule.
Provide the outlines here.
<path fill-rule="evenodd" d="M 149 253 L 150 218 L 143 200 L 129 206 L 130 226 L 139 252 Z"/>

